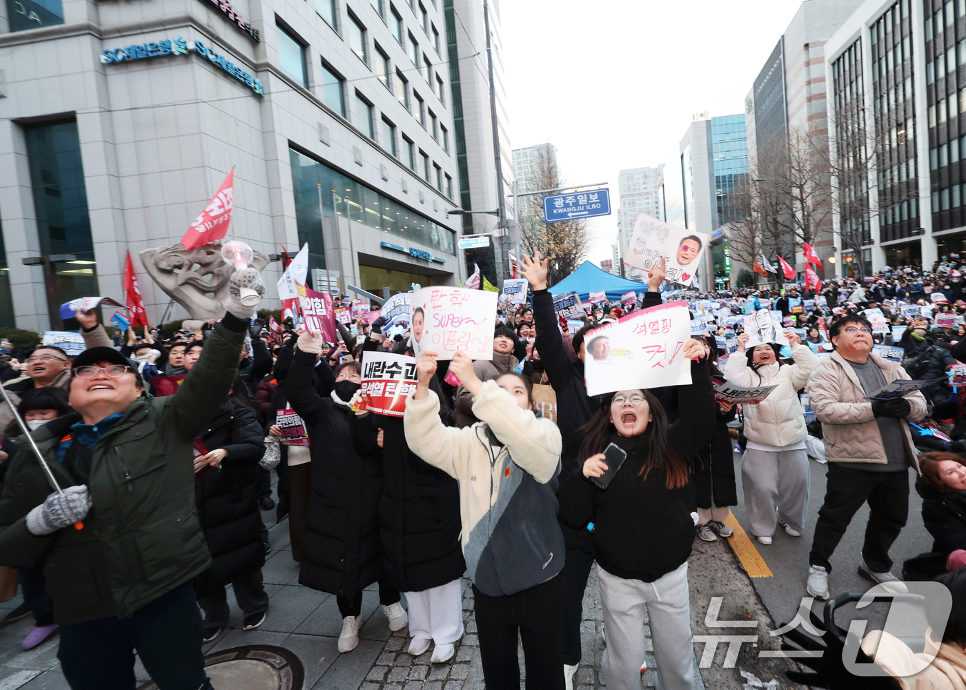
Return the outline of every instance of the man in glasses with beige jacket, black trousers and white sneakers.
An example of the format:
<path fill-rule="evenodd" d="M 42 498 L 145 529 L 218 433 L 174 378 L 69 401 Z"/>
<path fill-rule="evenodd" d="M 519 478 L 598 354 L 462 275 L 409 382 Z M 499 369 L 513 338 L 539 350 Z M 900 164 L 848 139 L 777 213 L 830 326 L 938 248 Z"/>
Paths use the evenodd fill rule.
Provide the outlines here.
<path fill-rule="evenodd" d="M 905 397 L 867 400 L 909 376 L 898 363 L 871 354 L 872 326 L 864 316 L 842 317 L 829 334 L 836 351 L 819 361 L 809 379 L 809 402 L 822 422 L 829 472 L 811 542 L 808 590 L 829 598 L 829 559 L 856 511 L 868 503 L 859 574 L 889 591 L 904 592 L 890 572 L 889 549 L 909 513 L 907 468 L 919 471 L 906 422 L 925 417 L 925 398 L 917 390 Z"/>

